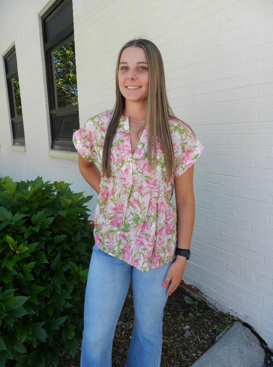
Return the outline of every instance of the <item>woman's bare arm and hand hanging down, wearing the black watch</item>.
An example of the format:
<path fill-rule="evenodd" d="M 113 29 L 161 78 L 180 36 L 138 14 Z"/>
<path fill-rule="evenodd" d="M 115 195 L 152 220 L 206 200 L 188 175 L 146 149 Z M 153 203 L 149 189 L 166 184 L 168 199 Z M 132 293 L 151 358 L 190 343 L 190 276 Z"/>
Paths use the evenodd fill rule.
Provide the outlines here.
<path fill-rule="evenodd" d="M 177 211 L 177 247 L 190 249 L 194 228 L 195 201 L 193 189 L 194 165 L 186 170 L 183 175 L 174 180 L 176 211 Z M 176 256 L 169 267 L 163 287 L 169 285 L 167 294 L 170 296 L 180 284 L 186 267 L 187 259 Z"/>

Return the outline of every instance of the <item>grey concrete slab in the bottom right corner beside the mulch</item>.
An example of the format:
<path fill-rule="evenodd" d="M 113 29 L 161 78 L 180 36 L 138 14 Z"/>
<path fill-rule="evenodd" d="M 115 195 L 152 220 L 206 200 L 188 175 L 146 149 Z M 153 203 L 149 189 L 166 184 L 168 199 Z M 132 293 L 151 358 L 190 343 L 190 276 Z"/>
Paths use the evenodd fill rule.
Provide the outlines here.
<path fill-rule="evenodd" d="M 192 367 L 265 367 L 264 358 L 258 338 L 240 322 L 235 322 Z"/>

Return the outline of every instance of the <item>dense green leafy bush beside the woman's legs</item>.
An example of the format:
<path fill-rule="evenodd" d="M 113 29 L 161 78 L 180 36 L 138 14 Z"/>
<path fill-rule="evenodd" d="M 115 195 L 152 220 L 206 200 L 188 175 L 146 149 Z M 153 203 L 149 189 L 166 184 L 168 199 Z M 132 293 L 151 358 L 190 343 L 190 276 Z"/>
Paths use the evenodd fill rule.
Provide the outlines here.
<path fill-rule="evenodd" d="M 40 177 L 0 181 L 0 367 L 75 355 L 94 244 L 90 199 Z"/>

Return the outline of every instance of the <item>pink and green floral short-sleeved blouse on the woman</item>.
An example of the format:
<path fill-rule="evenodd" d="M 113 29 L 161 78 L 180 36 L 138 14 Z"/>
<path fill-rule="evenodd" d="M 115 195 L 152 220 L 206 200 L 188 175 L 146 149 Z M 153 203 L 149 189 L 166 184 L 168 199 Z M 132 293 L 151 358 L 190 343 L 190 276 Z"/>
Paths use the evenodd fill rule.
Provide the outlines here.
<path fill-rule="evenodd" d="M 101 165 L 102 148 L 113 110 L 89 119 L 73 134 L 79 154 Z M 176 157 L 174 178 L 190 168 L 203 150 L 188 127 L 170 120 Z M 157 142 L 157 169 L 148 166 L 147 128 L 132 155 L 128 117 L 121 116 L 111 152 L 110 179 L 102 177 L 94 213 L 94 237 L 107 254 L 142 272 L 175 258 L 176 211 L 172 204 L 173 180 L 166 178 L 161 146 Z"/>

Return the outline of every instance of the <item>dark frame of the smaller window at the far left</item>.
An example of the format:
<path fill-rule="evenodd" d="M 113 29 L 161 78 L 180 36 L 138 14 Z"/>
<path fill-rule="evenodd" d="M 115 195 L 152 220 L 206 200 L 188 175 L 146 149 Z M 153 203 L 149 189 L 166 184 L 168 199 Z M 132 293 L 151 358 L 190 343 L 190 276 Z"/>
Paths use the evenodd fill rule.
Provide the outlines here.
<path fill-rule="evenodd" d="M 17 117 L 16 115 L 17 114 L 16 113 L 16 103 L 15 103 L 15 96 L 14 96 L 14 88 L 12 85 L 13 79 L 16 76 L 18 76 L 17 57 L 16 57 L 16 68 L 8 72 L 8 67 L 7 67 L 7 59 L 13 52 L 15 52 L 15 57 L 16 57 L 15 46 L 13 46 L 4 56 L 9 109 L 10 109 L 10 120 L 11 120 L 11 128 L 12 128 L 12 139 L 13 139 L 13 145 L 26 146 L 25 133 L 24 133 L 24 137 L 17 137 L 16 132 L 15 132 L 15 124 L 23 124 L 23 128 L 24 128 L 24 121 L 23 121 L 23 112 L 22 112 L 22 116 Z"/>

